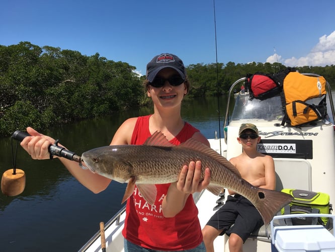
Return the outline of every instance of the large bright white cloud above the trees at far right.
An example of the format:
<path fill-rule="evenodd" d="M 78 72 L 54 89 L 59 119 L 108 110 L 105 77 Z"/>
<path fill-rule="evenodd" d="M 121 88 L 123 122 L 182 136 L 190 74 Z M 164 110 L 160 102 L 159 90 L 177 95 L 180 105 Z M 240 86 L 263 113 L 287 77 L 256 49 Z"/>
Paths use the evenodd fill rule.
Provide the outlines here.
<path fill-rule="evenodd" d="M 277 60 L 278 58 L 278 60 Z M 319 42 L 313 47 L 310 53 L 306 56 L 296 58 L 291 57 L 283 59 L 276 53 L 269 56 L 266 62 L 274 63 L 281 62 L 288 67 L 302 67 L 302 66 L 321 66 L 335 65 L 335 31 L 330 35 L 323 35 L 319 38 Z"/>

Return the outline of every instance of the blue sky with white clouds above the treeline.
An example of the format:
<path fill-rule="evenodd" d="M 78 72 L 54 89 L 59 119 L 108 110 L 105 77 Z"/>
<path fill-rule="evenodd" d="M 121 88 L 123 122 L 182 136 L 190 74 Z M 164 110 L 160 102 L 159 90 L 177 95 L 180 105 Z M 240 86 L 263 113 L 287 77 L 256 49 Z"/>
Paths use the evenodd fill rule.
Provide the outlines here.
<path fill-rule="evenodd" d="M 0 44 L 98 52 L 140 74 L 163 52 L 186 66 L 210 64 L 216 61 L 213 9 L 213 0 L 2 1 Z M 335 64 L 334 10 L 333 0 L 215 0 L 218 62 Z"/>

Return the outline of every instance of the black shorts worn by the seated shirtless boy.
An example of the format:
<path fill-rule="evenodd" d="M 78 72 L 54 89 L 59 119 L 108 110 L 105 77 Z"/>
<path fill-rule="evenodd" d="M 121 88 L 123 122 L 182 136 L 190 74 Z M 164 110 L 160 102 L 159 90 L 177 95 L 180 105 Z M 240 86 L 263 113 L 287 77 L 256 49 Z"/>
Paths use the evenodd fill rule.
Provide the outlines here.
<path fill-rule="evenodd" d="M 219 235 L 231 233 L 237 234 L 243 242 L 252 232 L 263 225 L 263 219 L 254 205 L 238 195 L 228 196 L 221 207 L 207 222 L 207 225 L 222 230 Z"/>

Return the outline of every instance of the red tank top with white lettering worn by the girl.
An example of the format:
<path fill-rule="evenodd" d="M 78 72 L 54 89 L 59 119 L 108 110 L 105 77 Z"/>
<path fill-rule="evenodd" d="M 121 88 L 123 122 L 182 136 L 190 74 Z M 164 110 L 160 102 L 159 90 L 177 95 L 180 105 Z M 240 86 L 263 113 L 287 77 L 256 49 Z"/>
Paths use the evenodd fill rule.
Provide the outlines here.
<path fill-rule="evenodd" d="M 138 117 L 131 144 L 142 145 L 151 136 L 150 116 Z M 185 122 L 184 128 L 170 143 L 179 145 L 196 132 L 199 130 Z M 198 209 L 192 195 L 188 197 L 184 209 L 175 217 L 165 218 L 163 216 L 161 202 L 169 186 L 170 183 L 156 184 L 157 197 L 152 206 L 139 195 L 135 186 L 133 195 L 127 200 L 126 220 L 122 231 L 128 241 L 155 250 L 192 249 L 202 242 Z"/>

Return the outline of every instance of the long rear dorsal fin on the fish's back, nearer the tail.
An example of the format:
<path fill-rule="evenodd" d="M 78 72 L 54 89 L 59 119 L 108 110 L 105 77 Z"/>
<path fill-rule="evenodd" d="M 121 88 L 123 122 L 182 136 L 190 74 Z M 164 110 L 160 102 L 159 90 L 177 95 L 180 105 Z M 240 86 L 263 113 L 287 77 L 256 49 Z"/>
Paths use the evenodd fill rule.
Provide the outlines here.
<path fill-rule="evenodd" d="M 205 144 L 203 144 L 203 143 L 201 143 L 201 142 L 199 142 L 199 141 L 197 141 L 193 138 L 190 138 L 186 142 L 181 143 L 180 145 L 176 146 L 176 148 L 188 148 L 188 149 L 191 149 L 193 151 L 194 150 L 200 151 L 203 154 L 206 154 L 207 156 L 209 156 L 210 158 L 215 159 L 220 164 L 224 165 L 227 169 L 229 169 L 230 171 L 235 173 L 238 177 L 241 177 L 241 174 L 236 169 L 236 167 L 232 163 L 230 163 L 226 158 L 221 156 L 219 153 L 214 151 L 212 148 L 209 148 L 207 145 L 205 145 Z M 211 167 L 209 167 L 209 168 L 211 168 Z"/>

